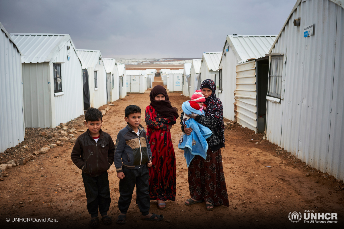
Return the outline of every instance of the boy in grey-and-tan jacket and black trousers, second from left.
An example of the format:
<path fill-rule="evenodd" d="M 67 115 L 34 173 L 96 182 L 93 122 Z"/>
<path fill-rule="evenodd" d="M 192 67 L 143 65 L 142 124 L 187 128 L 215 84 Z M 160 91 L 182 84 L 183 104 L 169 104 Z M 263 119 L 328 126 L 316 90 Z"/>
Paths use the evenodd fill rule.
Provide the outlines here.
<path fill-rule="evenodd" d="M 127 126 L 118 132 L 114 164 L 119 181 L 118 208 L 121 214 L 117 223 L 125 224 L 126 214 L 131 203 L 132 193 L 136 185 L 136 199 L 141 211 L 141 218 L 160 221 L 164 217 L 149 213 L 149 171 L 152 166 L 152 152 L 146 131 L 140 125 L 141 109 L 136 105 L 129 105 L 125 110 Z"/>

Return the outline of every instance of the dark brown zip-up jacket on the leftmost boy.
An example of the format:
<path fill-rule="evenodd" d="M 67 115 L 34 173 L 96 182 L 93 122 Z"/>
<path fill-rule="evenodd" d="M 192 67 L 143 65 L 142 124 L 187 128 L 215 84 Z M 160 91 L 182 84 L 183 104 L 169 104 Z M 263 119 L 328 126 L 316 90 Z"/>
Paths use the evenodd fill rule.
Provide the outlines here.
<path fill-rule="evenodd" d="M 93 177 L 107 171 L 114 162 L 114 141 L 101 129 L 99 134 L 96 142 L 87 129 L 76 139 L 71 153 L 73 163 L 84 173 Z"/>

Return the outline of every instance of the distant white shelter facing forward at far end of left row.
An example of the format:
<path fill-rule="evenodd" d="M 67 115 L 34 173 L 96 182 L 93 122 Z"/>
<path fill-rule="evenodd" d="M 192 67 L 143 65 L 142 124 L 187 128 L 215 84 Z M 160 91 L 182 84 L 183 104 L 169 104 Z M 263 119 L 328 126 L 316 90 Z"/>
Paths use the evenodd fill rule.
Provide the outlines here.
<path fill-rule="evenodd" d="M 126 70 L 127 93 L 143 93 L 146 90 L 145 73 L 142 70 Z"/>

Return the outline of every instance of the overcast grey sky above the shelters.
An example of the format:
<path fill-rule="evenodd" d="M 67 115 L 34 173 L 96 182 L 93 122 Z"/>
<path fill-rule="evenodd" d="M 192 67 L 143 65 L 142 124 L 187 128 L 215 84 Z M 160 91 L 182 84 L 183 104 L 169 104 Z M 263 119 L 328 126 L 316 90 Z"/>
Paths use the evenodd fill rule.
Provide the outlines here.
<path fill-rule="evenodd" d="M 227 35 L 278 34 L 296 0 L 0 0 L 9 33 L 70 34 L 103 57 L 202 57 Z"/>

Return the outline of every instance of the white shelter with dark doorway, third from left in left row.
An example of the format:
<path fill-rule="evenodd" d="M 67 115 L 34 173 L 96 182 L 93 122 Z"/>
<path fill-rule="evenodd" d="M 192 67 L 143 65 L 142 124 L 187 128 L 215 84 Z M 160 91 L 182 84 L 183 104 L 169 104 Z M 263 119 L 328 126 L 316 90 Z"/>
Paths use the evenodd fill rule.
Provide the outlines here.
<path fill-rule="evenodd" d="M 99 108 L 107 103 L 106 71 L 101 53 L 99 50 L 89 49 L 76 49 L 76 51 L 81 60 L 82 69 L 87 73 L 87 76 L 84 75 L 86 79 L 83 77 L 83 84 L 88 84 L 88 87 L 84 87 L 84 109 Z"/>

